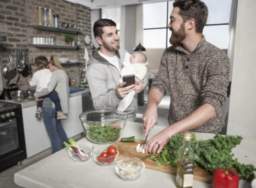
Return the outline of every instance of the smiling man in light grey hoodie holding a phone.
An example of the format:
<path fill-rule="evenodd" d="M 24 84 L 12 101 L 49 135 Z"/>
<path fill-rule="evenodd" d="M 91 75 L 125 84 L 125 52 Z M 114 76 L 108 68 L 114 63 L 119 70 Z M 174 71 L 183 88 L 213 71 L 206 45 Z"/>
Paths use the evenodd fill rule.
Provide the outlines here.
<path fill-rule="evenodd" d="M 146 85 L 138 80 L 135 85 L 123 87 L 120 83 L 120 71 L 123 68 L 123 60 L 126 50 L 120 49 L 119 34 L 116 23 L 110 19 L 98 19 L 94 23 L 94 37 L 100 48 L 92 50 L 86 79 L 88 80 L 90 93 L 95 109 L 117 109 L 119 102 L 131 91 L 139 93 Z M 128 120 L 135 121 L 137 111 L 137 98 L 125 109 Z"/>

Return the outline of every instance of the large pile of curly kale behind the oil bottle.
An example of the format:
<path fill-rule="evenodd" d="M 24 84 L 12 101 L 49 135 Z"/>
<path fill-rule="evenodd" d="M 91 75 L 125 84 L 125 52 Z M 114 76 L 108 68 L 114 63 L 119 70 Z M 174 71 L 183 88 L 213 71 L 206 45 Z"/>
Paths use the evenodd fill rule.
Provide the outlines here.
<path fill-rule="evenodd" d="M 195 140 L 195 134 L 191 142 L 191 148 L 195 153 L 195 167 L 201 167 L 205 171 L 213 172 L 214 169 L 233 169 L 240 178 L 251 181 L 256 171 L 253 164 L 241 164 L 237 158 L 233 158 L 232 148 L 241 143 L 241 136 L 221 136 L 216 134 L 214 138 L 209 140 Z M 160 154 L 150 154 L 145 158 L 157 157 L 156 164 L 171 164 L 177 167 L 178 155 L 177 151 L 183 144 L 182 134 L 172 136 L 169 144 L 164 146 Z"/>

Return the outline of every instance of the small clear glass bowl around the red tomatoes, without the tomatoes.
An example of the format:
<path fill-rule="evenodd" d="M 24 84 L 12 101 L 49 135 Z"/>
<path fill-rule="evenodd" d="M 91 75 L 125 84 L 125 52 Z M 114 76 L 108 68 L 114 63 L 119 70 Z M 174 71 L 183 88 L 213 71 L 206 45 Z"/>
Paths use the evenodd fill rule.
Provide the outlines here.
<path fill-rule="evenodd" d="M 117 154 L 113 156 L 109 156 L 108 158 L 98 158 L 102 152 L 106 152 L 106 150 L 98 148 L 97 150 L 92 152 L 92 156 L 94 158 L 94 161 L 97 164 L 100 164 L 101 166 L 107 166 L 107 165 L 112 165 L 115 164 L 119 151 L 117 151 Z"/>

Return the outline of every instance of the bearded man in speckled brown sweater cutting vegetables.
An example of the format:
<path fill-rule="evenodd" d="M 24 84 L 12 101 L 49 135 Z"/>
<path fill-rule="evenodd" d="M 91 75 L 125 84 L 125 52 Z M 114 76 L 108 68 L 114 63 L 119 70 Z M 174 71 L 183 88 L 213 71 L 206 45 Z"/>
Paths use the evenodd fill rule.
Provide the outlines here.
<path fill-rule="evenodd" d="M 217 133 L 224 126 L 220 107 L 227 96 L 230 62 L 202 34 L 207 7 L 199 0 L 177 0 L 173 7 L 168 24 L 172 46 L 162 55 L 142 117 L 146 136 L 156 124 L 158 103 L 170 91 L 170 126 L 148 142 L 149 153 L 159 153 L 174 134 L 185 130 Z"/>

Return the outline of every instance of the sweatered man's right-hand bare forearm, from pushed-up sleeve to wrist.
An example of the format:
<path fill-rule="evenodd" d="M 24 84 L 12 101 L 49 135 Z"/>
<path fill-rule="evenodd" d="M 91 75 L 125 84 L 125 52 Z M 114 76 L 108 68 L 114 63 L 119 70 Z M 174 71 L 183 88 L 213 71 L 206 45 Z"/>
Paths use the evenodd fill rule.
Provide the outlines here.
<path fill-rule="evenodd" d="M 187 118 L 170 125 L 167 129 L 170 130 L 170 137 L 174 134 L 184 132 L 185 130 L 192 130 L 207 122 L 216 116 L 215 108 L 210 104 L 201 105 Z"/>

